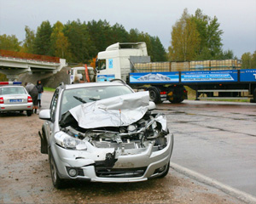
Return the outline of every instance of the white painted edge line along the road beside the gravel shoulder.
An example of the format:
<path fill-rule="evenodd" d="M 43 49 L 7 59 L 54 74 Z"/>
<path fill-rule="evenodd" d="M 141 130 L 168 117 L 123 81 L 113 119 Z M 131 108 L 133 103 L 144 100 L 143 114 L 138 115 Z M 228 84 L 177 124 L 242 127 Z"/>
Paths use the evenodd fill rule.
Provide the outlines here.
<path fill-rule="evenodd" d="M 189 168 L 179 166 L 176 163 L 170 163 L 170 167 L 177 171 L 178 173 L 182 173 L 185 176 L 188 176 L 189 178 L 194 178 L 195 180 L 210 185 L 218 190 L 222 190 L 224 193 L 231 195 L 233 197 L 236 197 L 237 199 L 247 202 L 247 203 L 256 203 L 256 197 L 253 195 L 247 194 L 246 192 L 243 192 L 241 190 L 237 190 L 233 187 L 230 187 L 229 185 L 222 184 L 221 182 L 218 182 L 217 180 L 213 178 L 206 177 L 202 175 L 201 173 L 196 173 Z"/>

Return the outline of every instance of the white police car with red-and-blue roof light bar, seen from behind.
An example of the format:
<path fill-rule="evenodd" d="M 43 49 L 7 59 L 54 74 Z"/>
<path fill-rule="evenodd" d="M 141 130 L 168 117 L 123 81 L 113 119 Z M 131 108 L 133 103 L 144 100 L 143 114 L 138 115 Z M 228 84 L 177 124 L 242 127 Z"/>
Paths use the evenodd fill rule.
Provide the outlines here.
<path fill-rule="evenodd" d="M 32 98 L 21 82 L 0 82 L 0 113 L 7 111 L 26 111 L 32 115 Z"/>

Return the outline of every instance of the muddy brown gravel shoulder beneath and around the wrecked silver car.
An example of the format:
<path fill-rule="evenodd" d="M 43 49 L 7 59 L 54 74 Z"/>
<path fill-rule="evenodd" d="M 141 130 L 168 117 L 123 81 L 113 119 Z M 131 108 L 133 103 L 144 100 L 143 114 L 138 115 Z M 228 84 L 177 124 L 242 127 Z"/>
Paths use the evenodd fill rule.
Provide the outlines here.
<path fill-rule="evenodd" d="M 142 183 L 70 182 L 55 190 L 48 156 L 40 153 L 43 122 L 25 112 L 0 114 L 0 203 L 241 203 L 172 168 L 166 178 Z"/>

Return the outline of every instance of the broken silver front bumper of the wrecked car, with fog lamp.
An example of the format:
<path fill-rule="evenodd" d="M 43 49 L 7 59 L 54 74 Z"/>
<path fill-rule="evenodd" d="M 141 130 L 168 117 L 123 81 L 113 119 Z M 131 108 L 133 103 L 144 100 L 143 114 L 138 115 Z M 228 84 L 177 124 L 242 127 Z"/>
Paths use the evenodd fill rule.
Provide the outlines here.
<path fill-rule="evenodd" d="M 166 172 L 172 156 L 173 135 L 167 134 L 166 146 L 154 141 L 143 148 L 97 148 L 88 143 L 87 150 L 67 150 L 51 144 L 50 150 L 60 178 L 91 182 L 138 182 L 159 177 Z M 123 146 L 128 144 L 122 144 Z"/>

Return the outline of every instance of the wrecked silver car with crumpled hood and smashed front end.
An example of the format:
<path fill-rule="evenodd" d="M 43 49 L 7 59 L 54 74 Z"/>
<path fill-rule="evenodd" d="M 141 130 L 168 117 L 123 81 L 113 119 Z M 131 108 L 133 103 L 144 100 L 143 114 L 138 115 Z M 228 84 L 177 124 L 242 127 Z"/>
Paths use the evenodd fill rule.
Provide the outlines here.
<path fill-rule="evenodd" d="M 53 184 L 65 179 L 138 182 L 169 171 L 173 136 L 166 116 L 152 113 L 148 92 L 121 82 L 62 85 L 39 132 Z"/>

